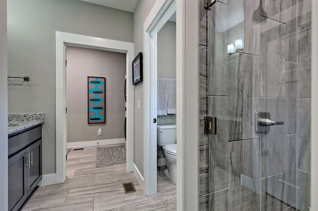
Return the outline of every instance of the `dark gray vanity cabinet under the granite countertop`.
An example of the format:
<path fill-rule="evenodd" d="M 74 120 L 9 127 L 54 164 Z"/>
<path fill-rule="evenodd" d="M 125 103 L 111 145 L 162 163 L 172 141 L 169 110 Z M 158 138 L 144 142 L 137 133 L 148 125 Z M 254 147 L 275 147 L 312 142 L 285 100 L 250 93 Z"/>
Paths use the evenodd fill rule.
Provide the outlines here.
<path fill-rule="evenodd" d="M 42 179 L 41 126 L 9 136 L 8 148 L 8 208 L 17 211 Z"/>

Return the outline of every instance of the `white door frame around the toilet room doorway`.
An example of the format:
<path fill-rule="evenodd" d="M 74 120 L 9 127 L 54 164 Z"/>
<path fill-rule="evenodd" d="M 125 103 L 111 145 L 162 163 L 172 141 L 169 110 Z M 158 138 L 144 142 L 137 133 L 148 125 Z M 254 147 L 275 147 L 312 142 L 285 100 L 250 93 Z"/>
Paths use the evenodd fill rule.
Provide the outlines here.
<path fill-rule="evenodd" d="M 157 33 L 176 11 L 177 81 L 177 206 L 184 202 L 184 1 L 157 0 L 144 22 L 144 187 L 145 194 L 157 192 Z"/>

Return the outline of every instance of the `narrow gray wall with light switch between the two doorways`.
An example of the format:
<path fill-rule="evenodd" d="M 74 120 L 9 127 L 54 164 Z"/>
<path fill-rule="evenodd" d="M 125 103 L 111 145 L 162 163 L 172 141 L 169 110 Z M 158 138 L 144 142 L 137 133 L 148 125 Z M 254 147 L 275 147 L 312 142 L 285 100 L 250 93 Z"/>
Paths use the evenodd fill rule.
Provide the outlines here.
<path fill-rule="evenodd" d="M 139 0 L 134 12 L 134 52 L 144 52 L 144 22 L 156 0 Z M 145 65 L 144 65 L 145 67 Z M 145 69 L 144 69 L 145 71 Z M 137 84 L 134 89 L 134 163 L 144 175 L 144 84 Z M 140 100 L 140 109 L 137 101 Z"/>

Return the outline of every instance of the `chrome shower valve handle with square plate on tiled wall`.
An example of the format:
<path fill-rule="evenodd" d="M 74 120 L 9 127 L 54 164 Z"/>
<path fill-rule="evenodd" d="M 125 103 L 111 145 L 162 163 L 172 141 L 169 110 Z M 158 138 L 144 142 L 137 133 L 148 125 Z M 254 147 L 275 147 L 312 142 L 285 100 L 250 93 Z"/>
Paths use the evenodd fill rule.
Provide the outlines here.
<path fill-rule="evenodd" d="M 270 119 L 269 112 L 255 112 L 255 132 L 263 133 L 268 132 L 273 125 L 284 124 L 283 121 L 275 122 Z"/>

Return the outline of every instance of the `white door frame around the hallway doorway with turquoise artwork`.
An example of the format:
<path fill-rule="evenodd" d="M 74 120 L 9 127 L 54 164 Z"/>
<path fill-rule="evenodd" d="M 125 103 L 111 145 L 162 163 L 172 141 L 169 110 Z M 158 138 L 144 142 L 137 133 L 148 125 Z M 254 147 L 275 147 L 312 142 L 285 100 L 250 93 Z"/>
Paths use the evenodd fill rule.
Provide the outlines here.
<path fill-rule="evenodd" d="M 66 179 L 66 71 L 65 47 L 81 47 L 110 52 L 126 53 L 127 81 L 132 81 L 134 44 L 116 40 L 56 32 L 56 174 L 50 175 L 41 185 L 62 183 Z M 124 83 L 124 79 L 123 79 Z M 127 170 L 133 170 L 134 161 L 134 87 L 127 83 Z"/>

